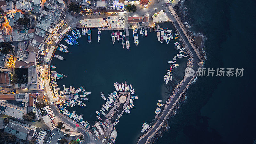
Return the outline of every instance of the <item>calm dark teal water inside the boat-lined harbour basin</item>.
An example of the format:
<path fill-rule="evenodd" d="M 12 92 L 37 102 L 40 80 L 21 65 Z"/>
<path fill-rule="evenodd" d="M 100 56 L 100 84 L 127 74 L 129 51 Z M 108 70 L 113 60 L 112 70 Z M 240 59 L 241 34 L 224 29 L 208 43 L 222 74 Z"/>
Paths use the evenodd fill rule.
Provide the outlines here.
<path fill-rule="evenodd" d="M 174 30 L 170 23 L 166 26 Z M 51 64 L 57 67 L 55 70 L 67 76 L 58 80 L 58 85 L 61 90 L 63 84 L 66 88 L 70 85 L 76 89 L 83 86 L 87 92 L 92 93 L 87 96 L 89 100 L 84 102 L 86 107 L 67 108 L 71 113 L 75 110 L 76 114 L 83 114 L 84 120 L 92 126 L 97 121 L 95 111 L 100 111 L 100 107 L 106 102 L 100 97 L 100 92 L 108 96 L 115 90 L 115 82 L 126 81 L 127 84 L 132 84 L 135 96 L 139 99 L 134 101 L 135 107 L 130 110 L 131 113 L 124 113 L 116 124 L 116 143 L 136 143 L 143 123 L 149 124 L 155 117 L 157 101 L 167 100 L 172 88 L 183 79 L 187 58 L 177 59 L 176 64 L 180 66 L 174 69 L 172 82 L 165 84 L 164 75 L 170 68 L 168 60 L 172 60 L 178 52 L 174 50 L 174 43 L 178 39 L 169 44 L 161 44 L 157 41 L 156 33 L 148 30 L 148 37 L 139 34 L 139 45 L 135 46 L 130 30 L 130 49 L 127 51 L 126 47 L 122 47 L 121 40 L 112 43 L 111 31 L 101 31 L 100 42 L 97 41 L 97 33 L 97 29 L 92 29 L 90 44 L 87 36 L 78 39 L 79 46 L 69 46 L 64 40 L 60 42 L 69 47 L 70 53 L 56 51 L 55 54 L 63 56 L 65 60 L 52 59 Z M 103 116 L 102 119 L 105 120 Z"/>

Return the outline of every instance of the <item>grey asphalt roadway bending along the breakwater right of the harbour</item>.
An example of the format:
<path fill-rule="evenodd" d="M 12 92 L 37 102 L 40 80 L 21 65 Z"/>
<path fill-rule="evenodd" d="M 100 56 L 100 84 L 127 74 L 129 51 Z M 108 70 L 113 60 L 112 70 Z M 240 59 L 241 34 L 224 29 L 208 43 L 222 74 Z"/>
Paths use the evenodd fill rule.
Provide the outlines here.
<path fill-rule="evenodd" d="M 196 52 L 194 51 L 193 47 L 191 46 L 191 44 L 189 43 L 189 40 L 187 39 L 187 37 L 185 36 L 185 34 L 183 33 L 182 29 L 180 28 L 180 25 L 178 24 L 178 22 L 175 20 L 175 18 L 173 17 L 173 15 L 171 15 L 168 11 L 166 12 L 169 19 L 173 21 L 174 25 L 176 26 L 177 30 L 180 32 L 181 37 L 183 38 L 183 40 L 185 41 L 185 43 L 188 45 L 188 48 L 190 49 L 190 51 L 192 52 L 193 55 L 193 67 L 192 69 L 195 71 L 195 74 L 199 68 L 199 65 L 197 63 L 201 62 L 200 59 L 198 58 L 198 56 L 196 55 Z M 169 14 L 168 14 L 169 13 Z M 168 112 L 170 111 L 170 109 L 172 108 L 172 106 L 174 105 L 175 101 L 179 98 L 180 94 L 184 91 L 184 89 L 186 88 L 186 86 L 188 85 L 188 83 L 190 82 L 190 80 L 192 79 L 193 76 L 188 77 L 185 82 L 181 85 L 180 89 L 178 90 L 178 92 L 175 94 L 174 98 L 172 99 L 172 101 L 169 103 L 167 109 L 164 111 L 163 115 L 160 117 L 158 123 L 156 123 L 155 127 L 152 128 L 150 130 L 150 132 L 142 139 L 140 139 L 138 141 L 138 144 L 144 144 L 146 143 L 147 139 L 149 136 L 151 136 L 156 130 L 157 128 L 160 126 L 160 124 L 163 122 L 165 116 L 168 114 Z"/>

